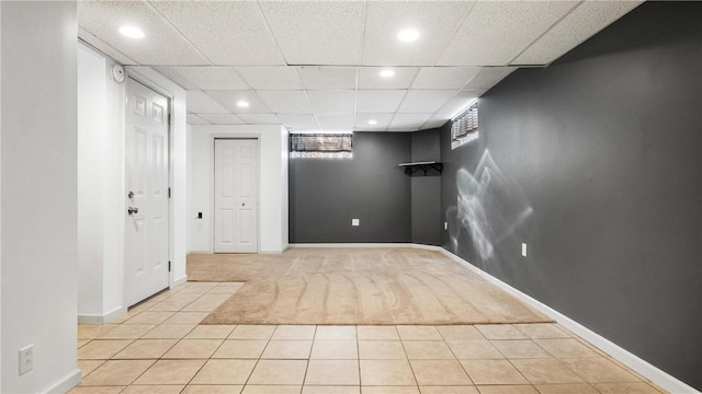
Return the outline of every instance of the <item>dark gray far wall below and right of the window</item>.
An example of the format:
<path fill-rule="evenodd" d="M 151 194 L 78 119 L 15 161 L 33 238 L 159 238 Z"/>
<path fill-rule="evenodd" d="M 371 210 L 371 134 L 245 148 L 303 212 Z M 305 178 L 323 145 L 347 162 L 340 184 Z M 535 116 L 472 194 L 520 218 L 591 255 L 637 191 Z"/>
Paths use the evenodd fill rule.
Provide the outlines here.
<path fill-rule="evenodd" d="M 290 242 L 410 242 L 410 158 L 408 132 L 354 132 L 353 159 L 291 159 Z"/>

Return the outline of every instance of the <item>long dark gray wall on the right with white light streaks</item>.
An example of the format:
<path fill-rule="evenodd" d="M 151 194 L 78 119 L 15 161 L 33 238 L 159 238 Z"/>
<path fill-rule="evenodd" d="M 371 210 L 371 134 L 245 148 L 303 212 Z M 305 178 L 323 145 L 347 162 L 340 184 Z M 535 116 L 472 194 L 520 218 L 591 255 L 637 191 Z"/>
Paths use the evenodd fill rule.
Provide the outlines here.
<path fill-rule="evenodd" d="M 699 390 L 700 21 L 645 2 L 483 96 L 478 141 L 441 136 L 444 247 Z"/>

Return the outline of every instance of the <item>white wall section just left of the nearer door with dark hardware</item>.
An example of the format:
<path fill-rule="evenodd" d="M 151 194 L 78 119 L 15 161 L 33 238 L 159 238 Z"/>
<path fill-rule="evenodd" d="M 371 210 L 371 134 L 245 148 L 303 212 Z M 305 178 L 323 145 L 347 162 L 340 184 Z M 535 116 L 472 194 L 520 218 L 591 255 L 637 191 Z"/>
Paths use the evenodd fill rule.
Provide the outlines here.
<path fill-rule="evenodd" d="M 124 94 L 113 61 L 78 46 L 78 317 L 102 324 L 125 312 Z"/>

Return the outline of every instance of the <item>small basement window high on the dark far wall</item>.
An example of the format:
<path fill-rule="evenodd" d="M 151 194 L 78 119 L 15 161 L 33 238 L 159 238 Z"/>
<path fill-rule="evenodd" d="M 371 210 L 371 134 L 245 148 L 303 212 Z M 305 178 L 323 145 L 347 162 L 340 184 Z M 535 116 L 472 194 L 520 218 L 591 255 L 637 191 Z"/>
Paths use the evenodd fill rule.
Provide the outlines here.
<path fill-rule="evenodd" d="M 342 158 L 351 159 L 352 134 L 291 134 L 291 158 Z"/>

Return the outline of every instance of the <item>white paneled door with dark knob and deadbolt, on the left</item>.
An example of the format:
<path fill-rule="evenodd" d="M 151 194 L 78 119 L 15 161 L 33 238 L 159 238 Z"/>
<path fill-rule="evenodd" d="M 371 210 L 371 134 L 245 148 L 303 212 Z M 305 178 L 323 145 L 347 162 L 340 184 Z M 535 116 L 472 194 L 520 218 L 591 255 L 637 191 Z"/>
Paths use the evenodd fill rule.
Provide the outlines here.
<path fill-rule="evenodd" d="M 125 298 L 168 288 L 168 99 L 127 79 Z"/>

